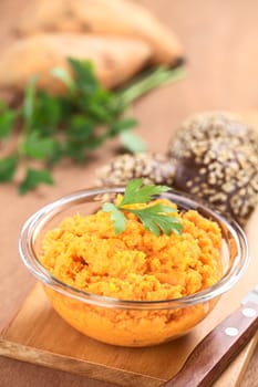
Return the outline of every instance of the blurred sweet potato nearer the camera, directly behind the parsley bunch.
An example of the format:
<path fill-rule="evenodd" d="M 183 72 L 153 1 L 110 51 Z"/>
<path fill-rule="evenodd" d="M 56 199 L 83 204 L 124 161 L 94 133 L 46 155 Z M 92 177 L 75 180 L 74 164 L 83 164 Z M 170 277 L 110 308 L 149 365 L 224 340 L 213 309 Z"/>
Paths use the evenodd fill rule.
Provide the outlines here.
<path fill-rule="evenodd" d="M 66 57 L 93 61 L 103 86 L 112 88 L 130 80 L 151 59 L 151 48 L 131 38 L 97 36 L 69 33 L 41 33 L 17 40 L 0 61 L 2 90 L 23 91 L 29 79 L 39 74 L 38 86 L 52 94 L 65 85 L 51 75 L 53 67 L 71 73 Z"/>

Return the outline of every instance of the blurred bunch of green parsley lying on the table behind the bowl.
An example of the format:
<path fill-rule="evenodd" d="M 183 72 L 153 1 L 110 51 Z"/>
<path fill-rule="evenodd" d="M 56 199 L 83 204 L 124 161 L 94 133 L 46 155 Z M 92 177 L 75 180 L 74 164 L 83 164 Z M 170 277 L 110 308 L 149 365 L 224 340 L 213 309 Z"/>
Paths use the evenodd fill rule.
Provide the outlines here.
<path fill-rule="evenodd" d="M 62 95 L 39 91 L 34 76 L 19 107 L 0 102 L 0 151 L 3 149 L 4 155 L 0 154 L 0 184 L 13 181 L 20 167 L 20 194 L 42 182 L 52 185 L 52 169 L 61 159 L 84 164 L 112 137 L 118 136 L 130 151 L 145 150 L 145 143 L 132 132 L 137 121 L 125 116 L 126 109 L 152 88 L 184 76 L 183 69 L 159 67 L 111 92 L 100 84 L 91 62 L 68 61 L 73 77 L 63 69 L 52 70 L 52 75 L 66 85 Z M 17 146 L 7 153 L 9 142 Z"/>

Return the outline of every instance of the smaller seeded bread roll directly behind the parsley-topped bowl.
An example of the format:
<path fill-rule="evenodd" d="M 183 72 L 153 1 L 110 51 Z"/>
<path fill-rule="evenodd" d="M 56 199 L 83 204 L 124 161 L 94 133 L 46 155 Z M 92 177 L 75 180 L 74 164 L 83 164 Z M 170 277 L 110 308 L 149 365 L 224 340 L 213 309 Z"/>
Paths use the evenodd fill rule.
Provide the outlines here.
<path fill-rule="evenodd" d="M 144 184 L 172 186 L 174 172 L 174 164 L 163 155 L 122 155 L 96 171 L 96 185 L 125 185 L 131 179 L 143 177 Z"/>

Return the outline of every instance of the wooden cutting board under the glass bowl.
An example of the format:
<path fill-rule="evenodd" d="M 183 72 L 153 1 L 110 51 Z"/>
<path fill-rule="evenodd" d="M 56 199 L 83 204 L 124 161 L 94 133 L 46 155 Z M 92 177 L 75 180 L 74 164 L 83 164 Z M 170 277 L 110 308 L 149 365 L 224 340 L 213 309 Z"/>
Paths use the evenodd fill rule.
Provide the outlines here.
<path fill-rule="evenodd" d="M 175 375 L 197 343 L 235 307 L 257 283 L 258 210 L 247 236 L 250 264 L 239 283 L 221 297 L 211 314 L 192 333 L 164 345 L 123 348 L 99 343 L 70 327 L 51 307 L 40 284 L 28 295 L 14 318 L 0 335 L 0 354 L 120 386 L 159 386 Z M 216 387 L 239 385 L 258 335 L 247 345 Z"/>

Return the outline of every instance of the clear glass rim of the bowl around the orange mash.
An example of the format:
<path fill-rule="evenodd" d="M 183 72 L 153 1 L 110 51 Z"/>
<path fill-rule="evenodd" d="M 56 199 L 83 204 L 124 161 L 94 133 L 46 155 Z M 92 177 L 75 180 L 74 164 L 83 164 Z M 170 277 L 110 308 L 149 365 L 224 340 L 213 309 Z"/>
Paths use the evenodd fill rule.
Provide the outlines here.
<path fill-rule="evenodd" d="M 183 208 L 193 208 L 205 211 L 215 221 L 223 223 L 236 242 L 238 253 L 234 260 L 233 266 L 226 273 L 226 275 L 224 275 L 220 281 L 218 281 L 213 286 L 206 287 L 200 292 L 179 299 L 158 301 L 127 301 L 92 294 L 83 290 L 70 286 L 54 278 L 45 268 L 43 268 L 43 265 L 41 265 L 32 247 L 37 230 L 39 230 L 40 227 L 45 224 L 49 219 L 54 217 L 54 215 L 60 212 L 62 209 L 68 208 L 70 205 L 82 203 L 84 199 L 89 199 L 90 197 L 94 197 L 96 195 L 123 194 L 124 189 L 124 186 L 118 186 L 79 190 L 63 196 L 62 198 L 52 201 L 51 203 L 42 207 L 37 212 L 34 212 L 23 224 L 19 238 L 19 252 L 27 269 L 41 283 L 68 297 L 102 307 L 130 310 L 174 310 L 205 303 L 220 296 L 223 293 L 230 290 L 244 274 L 248 265 L 249 254 L 247 238 L 239 224 L 234 220 L 230 220 L 229 222 L 229 220 L 211 210 L 206 205 L 199 203 L 185 192 L 179 192 L 176 190 L 171 190 L 166 194 L 161 195 L 161 197 L 166 197 Z"/>

